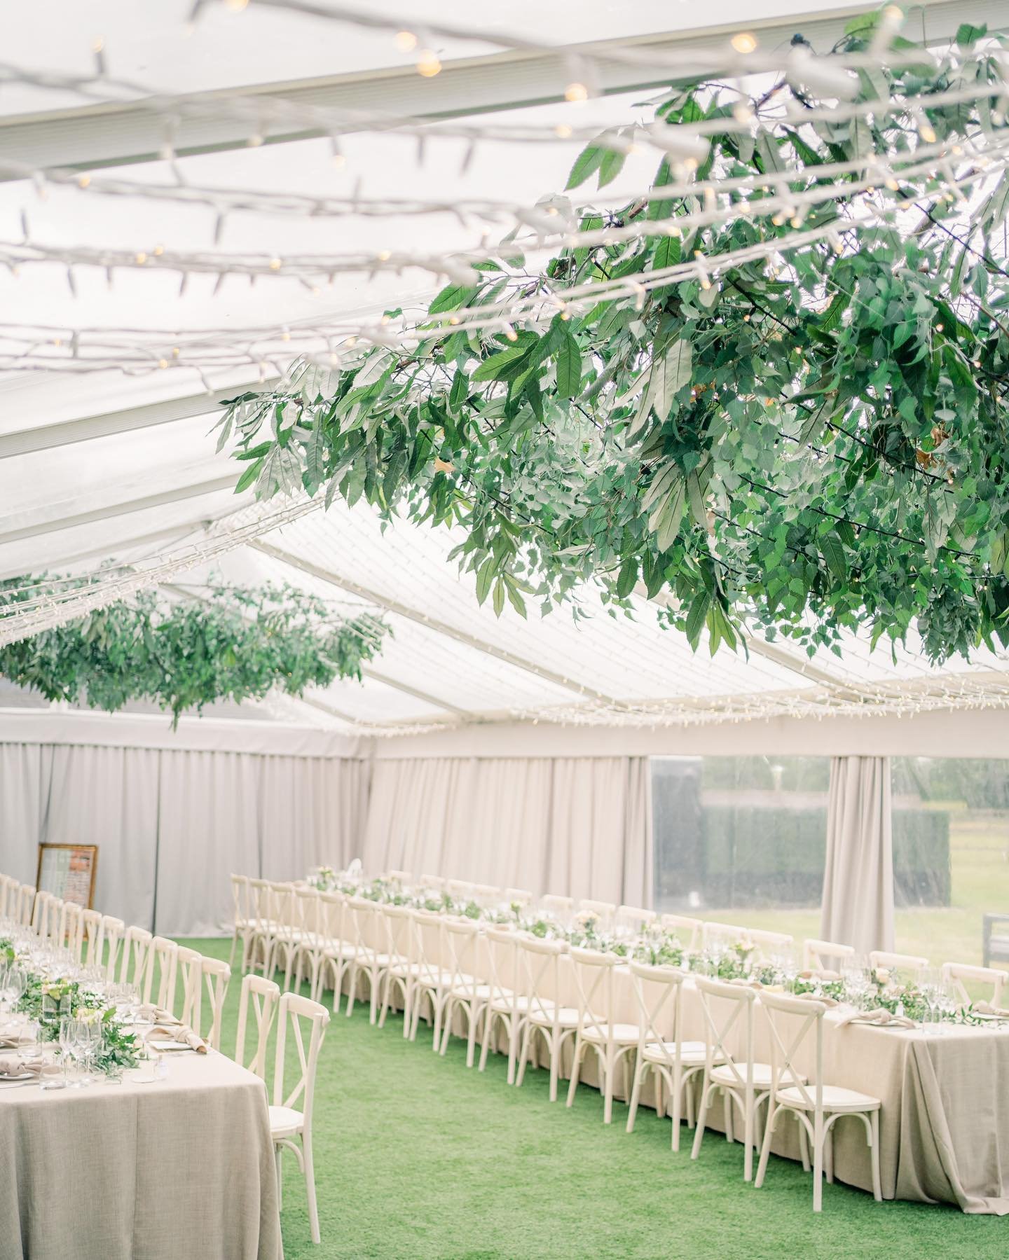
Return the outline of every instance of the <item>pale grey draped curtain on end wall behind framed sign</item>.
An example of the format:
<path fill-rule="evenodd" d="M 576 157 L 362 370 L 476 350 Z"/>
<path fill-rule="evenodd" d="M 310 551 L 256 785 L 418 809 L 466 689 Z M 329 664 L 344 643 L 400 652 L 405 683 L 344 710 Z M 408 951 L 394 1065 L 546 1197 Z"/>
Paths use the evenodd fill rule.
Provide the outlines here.
<path fill-rule="evenodd" d="M 161 935 L 213 935 L 232 871 L 300 878 L 358 848 L 367 762 L 0 743 L 0 869 L 35 882 L 38 844 L 98 845 L 95 905 Z"/>

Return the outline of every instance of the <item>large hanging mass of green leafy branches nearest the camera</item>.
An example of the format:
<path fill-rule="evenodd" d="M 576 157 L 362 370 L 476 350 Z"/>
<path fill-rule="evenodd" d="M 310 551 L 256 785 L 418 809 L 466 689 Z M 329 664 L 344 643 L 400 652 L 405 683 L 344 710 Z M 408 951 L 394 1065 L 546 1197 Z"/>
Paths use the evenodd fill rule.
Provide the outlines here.
<path fill-rule="evenodd" d="M 837 50 L 866 49 L 873 26 L 853 23 Z M 995 256 L 1009 178 L 956 156 L 1003 126 L 1000 52 L 962 26 L 938 60 L 859 71 L 860 100 L 892 108 L 848 121 L 790 121 L 786 103 L 822 102 L 784 79 L 748 102 L 742 132 L 725 84 L 672 91 L 657 107 L 666 123 L 725 120 L 696 178 L 752 176 L 748 213 L 566 248 L 541 272 L 506 246 L 430 306 L 499 309 L 501 331 L 428 324 L 416 350 L 375 346 L 332 373 L 303 363 L 280 388 L 232 399 L 222 445 L 237 435 L 248 461 L 238 486 L 303 485 L 460 527 L 453 556 L 498 612 L 511 601 L 525 615 L 530 598 L 547 610 L 595 580 L 614 611 L 633 591 L 663 596 L 695 646 L 706 626 L 713 651 L 744 626 L 810 654 L 861 625 L 873 643 L 914 625 L 932 660 L 1009 641 L 1009 294 Z M 979 101 L 932 103 L 989 82 Z M 946 159 L 903 174 L 932 132 Z M 875 226 L 854 231 L 854 192 L 802 224 L 832 223 L 832 239 L 790 247 L 795 224 L 759 214 L 768 173 L 807 190 L 834 181 L 817 168 L 873 152 L 895 171 L 868 194 Z M 622 161 L 590 145 L 569 186 L 605 184 Z M 951 164 L 970 207 L 950 190 Z M 580 228 L 703 209 L 663 194 L 674 175 L 663 160 L 647 199 L 583 213 Z M 714 266 L 777 239 L 777 266 Z M 699 270 L 637 299 L 556 306 L 575 284 L 647 280 L 697 256 L 710 280 Z M 556 314 L 506 326 L 504 304 L 536 294 Z"/>

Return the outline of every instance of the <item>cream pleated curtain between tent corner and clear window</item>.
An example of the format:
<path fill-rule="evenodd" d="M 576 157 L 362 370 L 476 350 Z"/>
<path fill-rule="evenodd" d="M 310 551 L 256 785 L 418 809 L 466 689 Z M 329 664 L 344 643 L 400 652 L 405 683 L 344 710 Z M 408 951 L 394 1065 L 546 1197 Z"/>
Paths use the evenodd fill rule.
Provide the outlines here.
<path fill-rule="evenodd" d="M 376 761 L 362 861 L 651 906 L 647 757 Z"/>

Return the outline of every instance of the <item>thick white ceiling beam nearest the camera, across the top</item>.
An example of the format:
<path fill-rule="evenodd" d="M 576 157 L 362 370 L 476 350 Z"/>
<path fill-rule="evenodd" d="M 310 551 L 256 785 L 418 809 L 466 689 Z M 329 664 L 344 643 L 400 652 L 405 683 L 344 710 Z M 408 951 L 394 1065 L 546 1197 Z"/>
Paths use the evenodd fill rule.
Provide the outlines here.
<path fill-rule="evenodd" d="M 810 42 L 829 47 L 836 42 L 845 23 L 863 9 L 861 4 L 845 4 L 832 15 L 792 14 L 786 18 L 750 19 L 747 25 L 759 34 L 762 43 L 774 45 L 787 42 L 796 32 Z M 932 0 L 919 6 L 922 25 L 930 42 L 948 39 L 962 20 L 961 0 Z M 989 29 L 1006 25 L 1003 0 L 975 0 L 971 10 L 975 21 L 988 21 Z M 739 23 L 711 24 L 689 32 L 656 33 L 631 39 L 600 40 L 568 45 L 564 50 L 520 50 L 484 57 L 459 58 L 446 62 L 433 79 L 417 76 L 410 67 L 370 69 L 351 74 L 315 79 L 295 79 L 232 89 L 246 101 L 284 100 L 314 108 L 373 112 L 386 118 L 425 121 L 458 118 L 502 110 L 517 110 L 564 100 L 570 79 L 571 54 L 602 58 L 607 47 L 628 47 L 638 50 L 711 48 L 724 44 L 739 29 Z M 308 30 L 308 28 L 305 28 Z M 913 29 L 908 29 L 913 35 Z M 657 55 L 657 62 L 661 57 Z M 602 94 L 661 88 L 672 76 L 661 66 L 627 66 L 599 59 L 594 63 L 595 88 Z M 704 64 L 699 62 L 697 73 Z M 213 101 L 221 92 L 206 92 L 207 113 L 185 117 L 175 136 L 175 155 L 223 152 L 245 149 L 250 136 L 238 125 L 213 112 Z M 286 144 L 325 135 L 319 129 L 277 132 L 264 137 L 265 144 Z M 164 122 L 148 106 L 114 102 L 79 108 L 54 110 L 19 115 L 0 120 L 0 152 L 14 163 L 43 169 L 61 166 L 68 170 L 93 170 L 163 160 Z M 0 171 L 0 180 L 19 178 Z"/>

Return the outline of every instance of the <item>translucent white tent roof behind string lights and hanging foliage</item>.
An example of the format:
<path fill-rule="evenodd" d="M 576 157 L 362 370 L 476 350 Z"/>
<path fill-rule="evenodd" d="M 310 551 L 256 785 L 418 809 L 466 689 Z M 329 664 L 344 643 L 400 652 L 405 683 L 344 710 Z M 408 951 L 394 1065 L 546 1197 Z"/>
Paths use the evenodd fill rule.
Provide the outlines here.
<path fill-rule="evenodd" d="M 493 108 L 497 122 L 569 121 L 579 127 L 639 116 L 636 103 L 648 93 L 636 84 L 656 79 L 656 72 L 613 63 L 603 84 L 610 94 L 566 105 L 557 101 L 564 63 L 555 58 L 551 64 L 542 53 L 502 53 L 439 39 L 443 74 L 423 79 L 410 58 L 396 52 L 387 30 L 318 21 L 254 0 L 242 13 L 208 5 L 187 35 L 190 8 L 190 0 L 180 0 L 158 6 L 154 15 L 122 0 L 88 6 L 42 3 L 5 33 L 4 62 L 88 73 L 91 44 L 101 35 L 108 73 L 153 92 L 283 84 L 275 91 L 285 97 L 322 93 L 342 106 L 383 105 L 399 113 L 455 120 L 486 117 L 483 111 Z M 542 44 L 619 40 L 622 47 L 665 48 L 677 40 L 724 40 L 743 23 L 772 44 L 787 43 L 795 30 L 829 43 L 845 15 L 861 8 L 767 0 L 757 20 L 752 4 L 723 0 L 714 13 L 715 34 L 699 25 L 711 15 L 699 16 L 684 3 L 639 3 L 629 11 L 594 0 L 547 6 L 520 0 L 507 10 L 428 3 L 411 6 L 410 21 L 462 21 L 464 13 L 488 33 L 535 30 Z M 1006 21 L 1004 4 L 983 3 L 972 6 L 972 20 L 983 19 L 986 8 Z M 930 37 L 955 28 L 959 10 L 946 0 L 926 5 Z M 392 5 L 367 8 L 372 16 L 395 11 Z M 30 155 L 39 166 L 87 166 L 96 178 L 101 171 L 172 185 L 170 165 L 156 160 L 158 145 L 144 144 L 150 116 L 131 110 L 82 107 L 66 92 L 18 82 L 0 86 L 0 176 L 16 174 Z M 421 155 L 411 137 L 362 132 L 342 139 L 346 160 L 335 166 L 327 139 L 248 147 L 247 135 L 231 127 L 230 137 L 219 130 L 188 136 L 193 155 L 178 158 L 175 166 L 188 184 L 446 203 L 479 197 L 532 205 L 563 188 L 579 147 L 484 141 L 463 170 L 468 145 L 462 140 L 439 140 Z M 216 151 L 206 151 L 208 146 Z M 185 151 L 180 145 L 179 152 Z M 646 186 L 653 164 L 648 155 L 632 156 L 607 190 L 608 199 L 619 203 L 628 190 Z M 486 224 L 462 223 L 452 214 L 312 222 L 238 212 L 228 214 L 214 242 L 217 212 L 206 205 L 111 197 L 77 184 L 50 184 L 40 199 L 29 179 L 0 181 L 0 249 L 23 239 L 25 223 L 30 241 L 47 247 L 148 255 L 155 247 L 169 253 L 221 249 L 266 257 L 386 247 L 439 255 L 477 246 L 486 231 Z M 164 331 L 165 345 L 178 340 L 184 360 L 184 348 L 201 330 L 225 330 L 235 344 L 251 344 L 255 334 L 247 329 L 294 329 L 323 316 L 352 319 L 390 306 L 419 306 L 438 280 L 409 268 L 401 276 L 339 277 L 318 295 L 286 276 L 261 278 L 255 286 L 228 277 L 216 287 L 213 275 L 192 276 L 180 295 L 178 273 L 140 266 L 117 268 L 110 285 L 103 268 L 77 266 L 72 291 L 62 265 L 23 266 L 18 276 L 0 268 L 0 363 L 11 353 L 11 335 L 28 326 L 64 330 L 61 339 L 73 329 Z M 199 543 L 214 522 L 250 504 L 248 495 L 233 495 L 237 466 L 227 454 L 214 452 L 209 435 L 216 399 L 257 382 L 256 354 L 250 358 L 247 367 L 203 377 L 177 367 L 170 357 L 170 370 L 151 363 L 151 370 L 130 375 L 66 370 L 64 355 L 53 370 L 0 373 L 0 577 L 83 572 L 107 561 L 158 556 Z M 450 547 L 446 532 L 402 522 L 382 530 L 370 509 L 334 507 L 219 557 L 212 568 L 225 578 L 296 582 L 348 606 L 381 610 L 392 627 L 362 684 L 338 683 L 303 702 L 279 699 L 274 712 L 348 732 L 392 733 L 515 717 L 639 726 L 866 707 L 908 712 L 1009 698 L 1006 662 L 986 653 L 943 670 L 928 668 L 913 643 L 892 658 L 851 640 L 840 659 L 819 654 L 808 660 L 795 648 L 753 640 L 748 655 L 721 650 L 710 658 L 704 644 L 695 655 L 680 635 L 663 629 L 658 610 L 647 601 L 636 600 L 632 617 L 613 617 L 592 590 L 580 596 L 586 615 L 578 621 L 565 609 L 542 619 L 534 611 L 522 621 L 508 607 L 496 619 L 477 605 L 472 576 L 446 562 Z M 209 568 L 175 577 L 174 592 L 198 593 Z"/>

